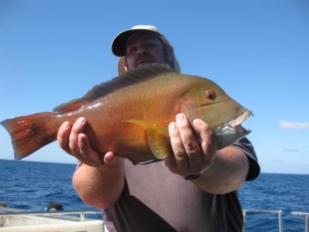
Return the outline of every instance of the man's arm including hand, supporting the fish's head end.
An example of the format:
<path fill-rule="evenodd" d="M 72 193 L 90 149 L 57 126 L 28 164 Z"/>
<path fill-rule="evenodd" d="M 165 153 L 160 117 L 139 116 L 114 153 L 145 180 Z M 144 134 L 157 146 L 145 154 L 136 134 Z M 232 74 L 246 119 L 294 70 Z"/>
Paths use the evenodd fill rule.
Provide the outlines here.
<path fill-rule="evenodd" d="M 217 151 L 212 130 L 205 122 L 195 119 L 195 130 L 201 136 L 201 145 L 197 143 L 188 119 L 183 114 L 169 126 L 174 157 L 168 157 L 166 166 L 180 175 L 203 175 L 193 183 L 208 193 L 223 194 L 235 191 L 245 182 L 249 169 L 248 158 L 239 149 L 229 146 Z"/>

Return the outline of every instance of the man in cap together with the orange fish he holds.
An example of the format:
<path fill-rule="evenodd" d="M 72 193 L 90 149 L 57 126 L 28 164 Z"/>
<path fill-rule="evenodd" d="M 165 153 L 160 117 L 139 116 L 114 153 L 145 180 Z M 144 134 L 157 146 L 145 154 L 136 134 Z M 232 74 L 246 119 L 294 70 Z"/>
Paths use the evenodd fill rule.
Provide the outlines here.
<path fill-rule="evenodd" d="M 15 158 L 57 138 L 79 160 L 74 188 L 109 231 L 242 231 L 237 189 L 259 175 L 241 126 L 250 110 L 209 79 L 181 75 L 154 26 L 119 33 L 112 52 L 119 77 L 55 113 L 1 122 Z"/>

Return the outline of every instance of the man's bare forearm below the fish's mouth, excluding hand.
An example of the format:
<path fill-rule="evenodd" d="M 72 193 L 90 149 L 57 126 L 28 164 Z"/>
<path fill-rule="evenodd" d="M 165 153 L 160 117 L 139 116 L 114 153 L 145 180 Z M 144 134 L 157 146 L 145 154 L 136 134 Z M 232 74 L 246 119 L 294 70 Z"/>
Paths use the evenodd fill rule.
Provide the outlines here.
<path fill-rule="evenodd" d="M 192 182 L 208 193 L 229 193 L 243 185 L 248 169 L 249 162 L 246 155 L 239 149 L 229 146 L 217 151 L 214 164 Z"/>

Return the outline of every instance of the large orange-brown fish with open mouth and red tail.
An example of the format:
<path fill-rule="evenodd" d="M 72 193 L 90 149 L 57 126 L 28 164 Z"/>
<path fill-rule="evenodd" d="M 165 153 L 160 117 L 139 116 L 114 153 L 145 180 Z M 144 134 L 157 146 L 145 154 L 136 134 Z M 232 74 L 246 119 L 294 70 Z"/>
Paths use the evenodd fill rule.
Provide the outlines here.
<path fill-rule="evenodd" d="M 128 70 L 52 112 L 13 117 L 0 124 L 10 134 L 15 160 L 57 140 L 63 122 L 74 124 L 85 117 L 84 133 L 100 155 L 112 151 L 139 164 L 172 155 L 168 124 L 178 113 L 185 114 L 190 124 L 196 118 L 206 122 L 215 134 L 218 150 L 250 133 L 241 123 L 252 111 L 214 81 L 179 74 L 164 64 Z M 196 131 L 195 135 L 201 142 Z"/>

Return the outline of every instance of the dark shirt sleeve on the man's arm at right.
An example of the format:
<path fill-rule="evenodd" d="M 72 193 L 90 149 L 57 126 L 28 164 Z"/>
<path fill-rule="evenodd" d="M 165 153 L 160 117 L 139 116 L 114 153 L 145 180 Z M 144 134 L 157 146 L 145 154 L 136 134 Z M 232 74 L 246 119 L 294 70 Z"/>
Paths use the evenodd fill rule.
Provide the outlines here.
<path fill-rule="evenodd" d="M 255 149 L 253 148 L 249 139 L 244 137 L 232 146 L 235 146 L 237 149 L 245 153 L 248 157 L 249 171 L 246 180 L 254 180 L 255 178 L 257 178 L 260 173 L 260 167 L 259 163 L 257 162 L 257 155 L 255 154 Z"/>

